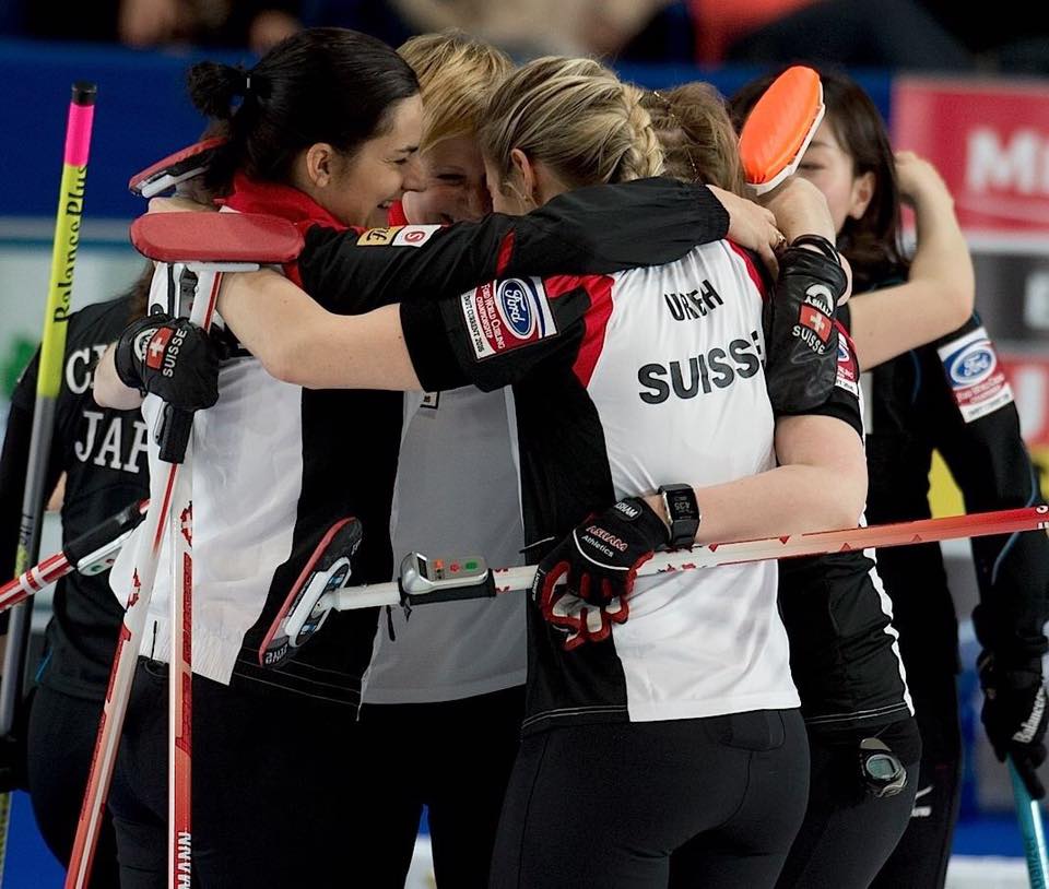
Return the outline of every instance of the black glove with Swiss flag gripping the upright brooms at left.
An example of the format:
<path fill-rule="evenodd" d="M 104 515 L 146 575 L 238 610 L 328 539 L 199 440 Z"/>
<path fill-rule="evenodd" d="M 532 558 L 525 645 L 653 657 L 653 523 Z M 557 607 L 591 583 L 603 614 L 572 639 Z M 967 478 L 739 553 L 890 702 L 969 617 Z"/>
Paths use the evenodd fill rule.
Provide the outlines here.
<path fill-rule="evenodd" d="M 174 407 L 200 411 L 219 401 L 219 347 L 186 318 L 139 319 L 120 334 L 114 364 L 125 386 Z"/>

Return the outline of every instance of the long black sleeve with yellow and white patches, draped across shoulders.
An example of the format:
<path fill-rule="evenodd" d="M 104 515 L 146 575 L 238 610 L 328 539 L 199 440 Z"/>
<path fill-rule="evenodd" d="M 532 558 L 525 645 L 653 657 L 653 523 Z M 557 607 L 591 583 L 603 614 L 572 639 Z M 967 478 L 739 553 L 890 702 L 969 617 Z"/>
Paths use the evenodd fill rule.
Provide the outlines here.
<path fill-rule="evenodd" d="M 303 286 L 331 311 L 444 299 L 495 277 L 608 274 L 660 265 L 721 239 L 729 217 L 709 189 L 667 179 L 577 189 L 526 216 L 306 236 Z"/>

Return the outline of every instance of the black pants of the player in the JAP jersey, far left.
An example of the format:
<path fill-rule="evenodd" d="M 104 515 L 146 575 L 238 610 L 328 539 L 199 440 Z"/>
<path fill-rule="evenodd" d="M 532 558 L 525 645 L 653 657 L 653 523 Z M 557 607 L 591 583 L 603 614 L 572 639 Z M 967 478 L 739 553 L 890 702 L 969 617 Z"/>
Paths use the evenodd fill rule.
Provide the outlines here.
<path fill-rule="evenodd" d="M 102 701 L 46 686 L 34 691 L 27 736 L 30 799 L 44 842 L 67 867 L 101 716 Z M 119 886 L 117 844 L 108 816 L 103 819 L 91 873 L 92 889 Z"/>

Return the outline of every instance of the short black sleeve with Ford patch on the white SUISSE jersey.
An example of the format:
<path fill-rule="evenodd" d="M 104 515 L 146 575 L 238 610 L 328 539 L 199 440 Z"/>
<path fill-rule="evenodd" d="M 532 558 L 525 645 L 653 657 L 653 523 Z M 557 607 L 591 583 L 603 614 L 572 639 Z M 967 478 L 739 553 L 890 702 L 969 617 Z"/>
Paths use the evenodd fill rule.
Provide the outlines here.
<path fill-rule="evenodd" d="M 504 278 L 439 303 L 402 303 L 401 327 L 426 391 L 511 386 L 540 364 L 575 359 L 587 310 L 608 278 Z"/>

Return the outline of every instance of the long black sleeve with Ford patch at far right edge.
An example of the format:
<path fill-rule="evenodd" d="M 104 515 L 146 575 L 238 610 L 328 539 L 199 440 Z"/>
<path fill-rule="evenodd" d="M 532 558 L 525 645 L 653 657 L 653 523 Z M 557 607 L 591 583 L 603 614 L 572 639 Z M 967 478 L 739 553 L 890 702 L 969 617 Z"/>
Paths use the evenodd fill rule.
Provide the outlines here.
<path fill-rule="evenodd" d="M 919 349 L 929 427 L 968 512 L 1045 502 L 994 344 L 975 317 Z M 973 540 L 980 643 L 1028 660 L 1049 644 L 1049 537 L 1042 531 Z"/>

